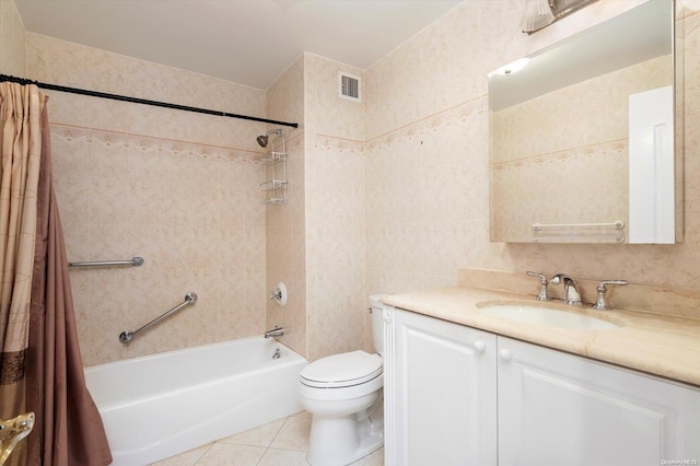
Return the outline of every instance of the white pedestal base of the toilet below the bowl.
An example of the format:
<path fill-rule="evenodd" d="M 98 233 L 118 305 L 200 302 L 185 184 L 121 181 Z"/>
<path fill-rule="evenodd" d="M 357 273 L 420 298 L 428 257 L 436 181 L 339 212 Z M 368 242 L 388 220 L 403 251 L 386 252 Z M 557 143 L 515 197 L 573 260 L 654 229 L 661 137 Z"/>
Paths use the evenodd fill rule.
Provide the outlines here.
<path fill-rule="evenodd" d="M 369 411 L 314 416 L 306 459 L 312 466 L 346 466 L 384 446 L 383 399 Z M 377 409 L 378 408 L 378 409 Z"/>

